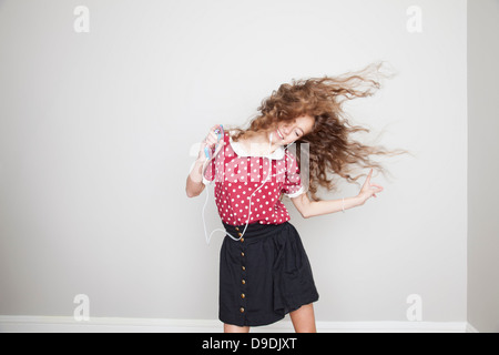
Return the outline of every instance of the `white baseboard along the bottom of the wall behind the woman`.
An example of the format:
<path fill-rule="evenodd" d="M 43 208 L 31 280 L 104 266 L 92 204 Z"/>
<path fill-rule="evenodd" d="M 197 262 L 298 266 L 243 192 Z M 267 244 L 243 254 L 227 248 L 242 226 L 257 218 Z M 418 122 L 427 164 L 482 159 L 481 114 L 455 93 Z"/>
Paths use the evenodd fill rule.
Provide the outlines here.
<path fill-rule="evenodd" d="M 77 322 L 64 316 L 0 316 L 0 333 L 221 333 L 215 320 L 93 317 Z M 317 322 L 320 333 L 478 333 L 466 322 Z M 292 333 L 284 320 L 253 333 Z"/>

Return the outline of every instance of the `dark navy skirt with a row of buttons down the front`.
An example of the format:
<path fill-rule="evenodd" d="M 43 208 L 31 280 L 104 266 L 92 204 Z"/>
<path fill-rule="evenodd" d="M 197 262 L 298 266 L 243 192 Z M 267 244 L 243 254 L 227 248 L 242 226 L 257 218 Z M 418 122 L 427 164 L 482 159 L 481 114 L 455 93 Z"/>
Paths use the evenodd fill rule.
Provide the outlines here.
<path fill-rule="evenodd" d="M 223 224 L 236 239 L 245 227 Z M 251 223 L 237 242 L 225 235 L 220 254 L 220 321 L 267 325 L 317 300 L 310 263 L 293 224 Z"/>

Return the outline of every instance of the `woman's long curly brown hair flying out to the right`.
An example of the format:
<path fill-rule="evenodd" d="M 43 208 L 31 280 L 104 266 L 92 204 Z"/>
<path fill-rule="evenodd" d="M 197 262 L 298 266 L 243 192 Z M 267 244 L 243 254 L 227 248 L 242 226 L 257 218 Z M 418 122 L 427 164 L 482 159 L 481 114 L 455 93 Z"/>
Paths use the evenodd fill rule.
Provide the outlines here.
<path fill-rule="evenodd" d="M 381 87 L 380 79 L 391 78 L 393 73 L 384 73 L 384 62 L 375 62 L 363 70 L 347 72 L 337 77 L 309 78 L 293 80 L 291 84 L 282 84 L 277 91 L 262 101 L 256 115 L 247 129 L 231 128 L 233 141 L 251 138 L 262 131 L 275 129 L 279 122 L 292 122 L 296 118 L 309 115 L 314 118 L 313 131 L 301 136 L 295 143 L 308 143 L 308 150 L 296 149 L 296 159 L 301 165 L 302 154 L 308 159 L 308 192 L 312 200 L 320 201 L 317 190 L 337 190 L 334 174 L 349 183 L 360 185 L 357 180 L 367 174 L 353 176 L 356 169 L 370 169 L 385 175 L 383 164 L 373 161 L 371 155 L 399 155 L 405 150 L 389 151 L 383 145 L 369 146 L 352 138 L 357 132 L 370 132 L 360 125 L 352 125 L 343 105 L 347 100 L 373 95 Z M 409 153 L 410 154 L 410 153 Z M 305 173 L 301 170 L 301 174 Z M 303 178 L 303 176 L 302 176 Z M 281 199 L 283 195 L 281 195 Z"/>

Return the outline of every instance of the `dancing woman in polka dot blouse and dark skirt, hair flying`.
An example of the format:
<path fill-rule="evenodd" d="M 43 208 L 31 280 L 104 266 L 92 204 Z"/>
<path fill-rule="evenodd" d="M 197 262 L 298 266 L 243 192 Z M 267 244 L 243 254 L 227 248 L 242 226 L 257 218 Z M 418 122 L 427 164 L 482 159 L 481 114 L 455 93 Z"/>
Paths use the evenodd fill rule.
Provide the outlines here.
<path fill-rule="evenodd" d="M 352 133 L 369 130 L 349 125 L 342 110 L 344 100 L 371 95 L 379 88 L 369 77 L 378 74 L 380 65 L 282 84 L 263 101 L 249 128 L 225 131 L 218 141 L 215 131 L 221 126 L 215 125 L 202 142 L 186 193 L 197 196 L 205 185 L 215 184 L 218 215 L 227 232 L 220 256 L 218 317 L 224 332 L 248 332 L 287 313 L 296 332 L 316 332 L 313 303 L 319 295 L 282 197 L 289 197 L 309 219 L 360 206 L 383 191 L 370 181 L 370 169 L 356 196 L 322 201 L 316 195 L 318 185 L 335 190 L 328 172 L 355 182 L 361 175 L 350 176 L 354 165 L 383 172 L 369 155 L 403 152 L 352 140 Z M 288 149 L 294 143 L 306 149 Z M 205 146 L 214 159 L 206 159 Z"/>

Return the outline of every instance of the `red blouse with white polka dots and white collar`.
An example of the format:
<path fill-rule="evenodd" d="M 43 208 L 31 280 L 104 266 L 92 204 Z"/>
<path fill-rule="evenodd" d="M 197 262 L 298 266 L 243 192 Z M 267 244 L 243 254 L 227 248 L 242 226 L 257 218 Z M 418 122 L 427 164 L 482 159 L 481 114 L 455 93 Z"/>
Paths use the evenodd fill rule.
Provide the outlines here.
<path fill-rule="evenodd" d="M 305 192 L 295 155 L 279 146 L 269 155 L 249 156 L 238 142 L 232 141 L 228 132 L 224 141 L 224 149 L 203 174 L 205 185 L 215 183 L 215 202 L 222 221 L 230 225 L 246 224 L 248 217 L 249 223 L 261 224 L 289 221 L 287 209 L 279 201 L 281 193 L 296 197 Z"/>

